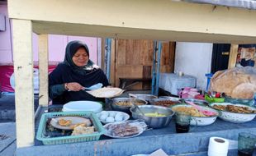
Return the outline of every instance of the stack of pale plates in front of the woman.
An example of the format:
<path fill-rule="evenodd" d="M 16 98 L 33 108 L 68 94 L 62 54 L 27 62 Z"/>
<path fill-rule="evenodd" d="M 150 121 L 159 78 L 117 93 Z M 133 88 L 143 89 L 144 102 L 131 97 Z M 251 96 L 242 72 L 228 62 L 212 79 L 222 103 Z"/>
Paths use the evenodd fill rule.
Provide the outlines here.
<path fill-rule="evenodd" d="M 102 104 L 95 101 L 71 101 L 64 104 L 63 112 L 92 111 L 102 112 Z"/>

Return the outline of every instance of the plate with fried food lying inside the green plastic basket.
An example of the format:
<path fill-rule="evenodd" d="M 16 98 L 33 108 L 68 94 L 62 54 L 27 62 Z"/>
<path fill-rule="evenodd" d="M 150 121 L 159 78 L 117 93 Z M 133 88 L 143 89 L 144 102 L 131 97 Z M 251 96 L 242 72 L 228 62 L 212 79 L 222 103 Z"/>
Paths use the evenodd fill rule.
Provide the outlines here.
<path fill-rule="evenodd" d="M 73 130 L 76 126 L 92 126 L 92 122 L 86 117 L 64 116 L 52 118 L 50 125 L 61 130 Z"/>

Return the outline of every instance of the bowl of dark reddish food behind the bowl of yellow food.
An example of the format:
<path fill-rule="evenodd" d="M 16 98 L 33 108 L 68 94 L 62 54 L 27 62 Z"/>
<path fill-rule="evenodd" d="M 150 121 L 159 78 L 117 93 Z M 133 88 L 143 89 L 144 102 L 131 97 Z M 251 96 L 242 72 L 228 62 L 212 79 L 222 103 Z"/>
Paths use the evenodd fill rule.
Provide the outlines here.
<path fill-rule="evenodd" d="M 174 104 L 182 103 L 182 102 L 181 102 L 181 99 L 179 98 L 164 96 L 164 97 L 159 97 L 159 99 L 151 99 L 149 103 L 168 108 L 173 106 Z"/>

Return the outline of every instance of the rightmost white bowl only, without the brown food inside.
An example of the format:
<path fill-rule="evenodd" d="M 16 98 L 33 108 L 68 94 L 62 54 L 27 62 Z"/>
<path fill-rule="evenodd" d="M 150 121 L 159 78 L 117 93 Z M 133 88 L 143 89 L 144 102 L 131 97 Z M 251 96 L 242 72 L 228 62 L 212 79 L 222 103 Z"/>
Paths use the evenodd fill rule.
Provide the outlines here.
<path fill-rule="evenodd" d="M 242 106 L 242 107 L 248 107 L 251 110 L 256 110 L 256 108 L 254 107 L 250 107 L 248 105 L 244 105 L 244 104 L 234 104 L 234 103 L 211 103 L 209 104 L 211 106 L 211 108 L 213 108 L 214 105 L 235 105 L 235 106 Z M 216 109 L 216 108 L 214 108 Z M 232 123 L 244 123 L 244 122 L 250 122 L 254 119 L 254 117 L 256 116 L 256 113 L 239 113 L 239 112 L 227 112 L 227 111 L 221 111 L 219 109 L 216 109 L 220 112 L 219 117 L 226 121 L 226 122 L 232 122 Z"/>

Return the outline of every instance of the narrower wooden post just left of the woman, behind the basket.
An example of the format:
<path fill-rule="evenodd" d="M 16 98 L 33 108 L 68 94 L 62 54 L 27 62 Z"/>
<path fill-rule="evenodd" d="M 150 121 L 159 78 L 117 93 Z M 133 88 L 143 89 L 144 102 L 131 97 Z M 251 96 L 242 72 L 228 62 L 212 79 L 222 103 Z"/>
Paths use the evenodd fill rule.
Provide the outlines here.
<path fill-rule="evenodd" d="M 39 35 L 39 105 L 48 106 L 48 35 Z"/>

